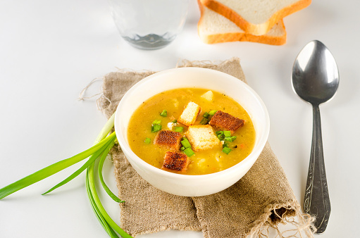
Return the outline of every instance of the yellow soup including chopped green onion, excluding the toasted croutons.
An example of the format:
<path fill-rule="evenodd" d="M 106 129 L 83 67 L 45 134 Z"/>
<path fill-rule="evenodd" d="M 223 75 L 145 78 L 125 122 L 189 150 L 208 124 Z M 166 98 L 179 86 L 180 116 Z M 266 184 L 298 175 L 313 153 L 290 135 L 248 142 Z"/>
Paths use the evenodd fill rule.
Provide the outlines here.
<path fill-rule="evenodd" d="M 198 105 L 201 111 L 189 127 L 180 123 L 182 120 L 179 118 L 190 102 Z M 211 127 L 209 123 L 217 112 L 240 118 L 244 123 L 235 131 Z M 213 140 L 211 149 L 197 149 L 194 139 L 187 138 L 191 135 L 190 129 L 197 128 L 213 131 L 211 133 L 218 141 Z M 154 141 L 159 141 L 161 131 L 170 131 L 170 134 L 173 132 L 180 135 L 181 139 L 192 142 L 192 153 L 187 153 L 189 149 L 185 148 L 183 142 L 176 149 L 154 144 Z M 171 172 L 205 175 L 230 168 L 246 158 L 254 148 L 255 130 L 248 113 L 229 96 L 209 89 L 183 88 L 161 92 L 144 101 L 130 118 L 128 142 L 130 149 L 139 158 L 156 168 L 164 168 L 164 157 L 169 151 L 173 151 L 172 153 L 186 154 L 188 163 L 185 170 L 170 170 Z"/>

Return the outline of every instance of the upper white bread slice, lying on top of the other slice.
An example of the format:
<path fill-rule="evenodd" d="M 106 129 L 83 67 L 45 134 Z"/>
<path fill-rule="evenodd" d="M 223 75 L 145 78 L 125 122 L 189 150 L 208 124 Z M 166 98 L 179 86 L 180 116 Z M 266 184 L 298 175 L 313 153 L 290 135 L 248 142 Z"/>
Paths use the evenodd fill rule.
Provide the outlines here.
<path fill-rule="evenodd" d="M 279 20 L 311 4 L 311 0 L 199 1 L 252 35 L 265 35 Z"/>

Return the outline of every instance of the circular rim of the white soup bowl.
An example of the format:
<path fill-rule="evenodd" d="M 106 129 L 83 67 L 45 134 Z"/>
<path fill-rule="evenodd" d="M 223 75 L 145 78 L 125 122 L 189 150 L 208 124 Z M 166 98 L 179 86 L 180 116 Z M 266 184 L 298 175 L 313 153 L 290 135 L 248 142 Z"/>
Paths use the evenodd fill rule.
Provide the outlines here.
<path fill-rule="evenodd" d="M 245 87 L 254 97 L 255 99 L 259 102 L 259 104 L 261 105 L 262 111 L 265 115 L 266 118 L 266 122 L 265 122 L 265 127 L 264 127 L 264 131 L 263 131 L 263 136 L 260 138 L 258 146 L 261 147 L 261 151 L 263 150 L 263 147 L 265 146 L 267 140 L 268 140 L 268 134 L 270 131 L 270 118 L 268 115 L 268 110 L 265 106 L 265 104 L 263 103 L 262 99 L 260 98 L 260 96 L 254 91 L 254 89 L 252 89 L 252 87 L 250 87 L 247 83 L 243 82 L 242 80 L 239 80 L 237 77 L 229 75 L 228 73 L 223 73 L 221 71 L 218 70 L 213 70 L 213 69 L 209 69 L 209 68 L 200 68 L 200 67 L 184 67 L 184 68 L 171 68 L 168 70 L 162 70 L 159 71 L 157 73 L 154 73 L 152 75 L 149 75 L 147 77 L 144 77 L 144 79 L 140 80 L 139 82 L 137 82 L 136 84 L 134 84 L 129 90 L 128 92 L 126 92 L 123 96 L 123 98 L 120 100 L 118 106 L 116 107 L 116 113 L 115 113 L 115 120 L 114 120 L 114 129 L 117 132 L 120 133 L 120 127 L 118 125 L 118 118 L 120 117 L 118 111 L 119 108 L 123 106 L 123 104 L 126 103 L 128 97 L 137 90 L 138 87 L 141 87 L 142 84 L 153 80 L 154 77 L 159 77 L 159 75 L 163 75 L 163 74 L 167 74 L 167 73 L 171 73 L 171 71 L 178 71 L 178 70 L 204 70 L 204 71 L 212 71 L 212 73 L 216 73 L 218 75 L 222 75 L 224 77 L 228 77 L 228 80 L 233 80 L 237 83 L 242 84 L 242 87 Z M 156 95 L 156 94 L 154 94 Z M 124 136 L 125 137 L 125 136 Z M 118 137 L 117 137 L 118 138 Z M 149 163 L 145 162 L 144 160 L 142 160 L 142 158 L 139 158 L 139 156 L 137 156 L 132 149 L 130 149 L 130 146 L 128 145 L 127 142 L 125 142 L 123 140 L 123 137 L 118 138 L 118 143 L 120 144 L 121 149 L 124 151 L 124 154 L 129 154 L 130 156 L 132 156 L 132 158 L 128 159 L 128 161 L 130 160 L 136 160 L 136 163 L 140 163 L 142 166 L 144 166 L 144 168 L 146 170 L 150 170 L 151 172 L 163 175 L 163 177 L 170 177 L 173 179 L 182 179 L 182 180 L 194 180 L 194 178 L 196 178 L 197 180 L 201 180 L 201 179 L 207 179 L 213 176 L 216 177 L 223 177 L 229 174 L 229 171 L 233 173 L 233 170 L 238 170 L 237 168 L 239 167 L 243 167 L 244 165 L 248 165 L 251 164 L 250 167 L 255 163 L 255 161 L 257 160 L 257 158 L 259 157 L 259 155 L 261 154 L 261 151 L 259 151 L 259 153 L 255 153 L 255 150 L 253 149 L 252 152 L 246 157 L 244 158 L 242 161 L 240 161 L 239 163 L 232 165 L 230 168 L 227 168 L 225 170 L 221 170 L 218 171 L 216 173 L 210 173 L 210 174 L 205 174 L 205 175 L 185 175 L 185 174 L 178 174 L 178 173 L 172 173 L 166 170 L 161 170 L 160 168 L 156 168 L 154 165 L 150 165 Z M 256 156 L 255 159 L 251 159 L 253 156 Z M 131 163 L 131 162 L 130 162 Z"/>

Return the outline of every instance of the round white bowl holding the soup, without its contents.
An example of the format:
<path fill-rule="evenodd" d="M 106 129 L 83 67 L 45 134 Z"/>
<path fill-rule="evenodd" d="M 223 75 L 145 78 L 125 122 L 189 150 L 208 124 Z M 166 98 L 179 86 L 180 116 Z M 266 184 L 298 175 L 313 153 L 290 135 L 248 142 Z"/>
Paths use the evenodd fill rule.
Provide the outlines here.
<path fill-rule="evenodd" d="M 132 113 L 151 96 L 183 87 L 212 89 L 232 97 L 244 107 L 252 118 L 256 132 L 254 149 L 247 158 L 217 173 L 180 175 L 156 168 L 132 152 L 128 144 L 128 124 Z M 154 187 L 180 196 L 214 194 L 235 184 L 259 157 L 268 139 L 269 128 L 268 111 L 252 88 L 236 77 L 206 68 L 174 68 L 144 78 L 123 96 L 115 115 L 116 137 L 132 168 Z"/>

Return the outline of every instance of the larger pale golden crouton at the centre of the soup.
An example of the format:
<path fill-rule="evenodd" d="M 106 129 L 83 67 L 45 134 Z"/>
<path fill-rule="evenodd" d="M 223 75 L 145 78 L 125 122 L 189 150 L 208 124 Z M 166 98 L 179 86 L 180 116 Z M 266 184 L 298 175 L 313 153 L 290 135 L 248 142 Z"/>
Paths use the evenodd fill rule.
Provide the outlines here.
<path fill-rule="evenodd" d="M 194 151 L 211 149 L 221 144 L 210 125 L 191 125 L 185 135 Z"/>

